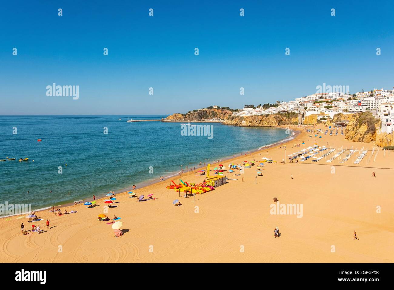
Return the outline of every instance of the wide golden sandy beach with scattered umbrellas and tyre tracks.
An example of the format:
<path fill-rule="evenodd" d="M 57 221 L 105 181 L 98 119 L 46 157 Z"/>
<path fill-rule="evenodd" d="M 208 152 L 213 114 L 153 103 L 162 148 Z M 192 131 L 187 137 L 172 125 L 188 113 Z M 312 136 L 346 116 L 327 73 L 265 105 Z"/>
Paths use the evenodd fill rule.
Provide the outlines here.
<path fill-rule="evenodd" d="M 117 194 L 119 204 L 110 208 L 107 215 L 121 217 L 124 234 L 119 238 L 114 237 L 111 225 L 97 221 L 105 198 L 97 200 L 99 206 L 95 208 L 83 204 L 62 208 L 62 212 L 77 211 L 68 215 L 56 216 L 48 210 L 36 212 L 42 221 L 34 224 L 44 230 L 41 234 L 21 234 L 22 222 L 27 229 L 31 227 L 25 217 L 2 218 L 0 260 L 394 262 L 394 152 L 383 152 L 381 148 L 378 152 L 372 143 L 349 142 L 340 134 L 315 137 L 305 132 L 306 128 L 313 127 L 294 126 L 292 129 L 302 131 L 294 140 L 220 162 L 227 167 L 229 163 L 263 157 L 278 161 L 266 164 L 263 176 L 256 178 L 256 165 L 245 168 L 241 176 L 234 176 L 238 171 L 225 172 L 227 178 L 237 180 L 228 180 L 213 191 L 190 198 L 166 189 L 169 180 L 133 191 L 145 196 L 153 193 L 156 200 L 137 202 L 127 193 Z M 303 141 L 305 145 L 293 146 Z M 311 159 L 288 162 L 288 155 L 315 143 L 347 151 L 331 163 L 326 159 L 316 163 Z M 353 163 L 353 156 L 340 163 L 349 149 L 362 148 L 368 152 L 359 164 Z M 216 166 L 217 163 L 211 168 Z M 185 172 L 173 179 L 175 183 L 179 178 L 200 183 L 206 176 Z M 271 214 L 275 197 L 280 204 L 302 205 L 302 217 Z M 175 199 L 182 206 L 173 206 Z M 50 220 L 48 230 L 46 219 Z M 277 226 L 281 236 L 274 238 Z M 354 230 L 359 240 L 353 239 Z"/>

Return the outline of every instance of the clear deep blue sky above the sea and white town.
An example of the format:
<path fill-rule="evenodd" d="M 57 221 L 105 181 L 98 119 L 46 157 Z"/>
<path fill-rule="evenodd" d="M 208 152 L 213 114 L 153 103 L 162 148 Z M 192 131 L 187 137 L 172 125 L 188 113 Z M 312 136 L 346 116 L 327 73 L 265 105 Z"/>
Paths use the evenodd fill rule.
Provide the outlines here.
<path fill-rule="evenodd" d="M 1 4 L 0 115 L 172 114 L 292 100 L 323 83 L 394 86 L 390 1 L 91 2 Z M 79 99 L 46 96 L 54 82 L 78 85 Z"/>

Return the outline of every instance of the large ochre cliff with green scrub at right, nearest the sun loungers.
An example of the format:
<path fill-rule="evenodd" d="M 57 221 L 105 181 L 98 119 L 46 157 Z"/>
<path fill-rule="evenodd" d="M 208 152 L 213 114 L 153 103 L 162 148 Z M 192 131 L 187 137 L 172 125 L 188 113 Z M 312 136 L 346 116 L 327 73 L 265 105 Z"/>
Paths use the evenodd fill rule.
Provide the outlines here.
<path fill-rule="evenodd" d="M 339 114 L 338 114 L 339 115 Z M 376 119 L 371 112 L 362 112 L 344 115 L 349 123 L 345 130 L 345 139 L 353 142 L 372 142 L 380 133 L 380 120 Z M 344 120 L 344 116 L 335 115 L 333 120 Z"/>

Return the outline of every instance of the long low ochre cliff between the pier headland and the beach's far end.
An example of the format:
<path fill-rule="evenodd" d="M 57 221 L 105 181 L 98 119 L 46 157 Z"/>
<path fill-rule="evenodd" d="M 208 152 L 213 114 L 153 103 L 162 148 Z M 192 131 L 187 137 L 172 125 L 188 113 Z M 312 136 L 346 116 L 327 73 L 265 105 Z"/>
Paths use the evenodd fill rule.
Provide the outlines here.
<path fill-rule="evenodd" d="M 269 114 L 261 116 L 231 116 L 224 122 L 225 125 L 240 127 L 273 127 L 278 125 L 298 124 L 297 114 Z"/>

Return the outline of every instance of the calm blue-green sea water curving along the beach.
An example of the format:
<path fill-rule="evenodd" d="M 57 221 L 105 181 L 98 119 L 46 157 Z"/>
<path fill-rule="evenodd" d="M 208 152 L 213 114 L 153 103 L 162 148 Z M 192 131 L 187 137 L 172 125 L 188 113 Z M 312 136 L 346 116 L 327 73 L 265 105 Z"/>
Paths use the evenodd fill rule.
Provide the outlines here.
<path fill-rule="evenodd" d="M 218 123 L 206 123 L 214 126 L 212 139 L 181 136 L 180 123 L 127 123 L 128 117 L 166 116 L 0 116 L 0 159 L 16 158 L 0 162 L 0 203 L 31 203 L 37 210 L 90 200 L 93 194 L 101 197 L 176 174 L 181 165 L 186 171 L 200 161 L 232 157 L 288 137 L 280 128 Z M 29 161 L 19 162 L 20 157 Z"/>

